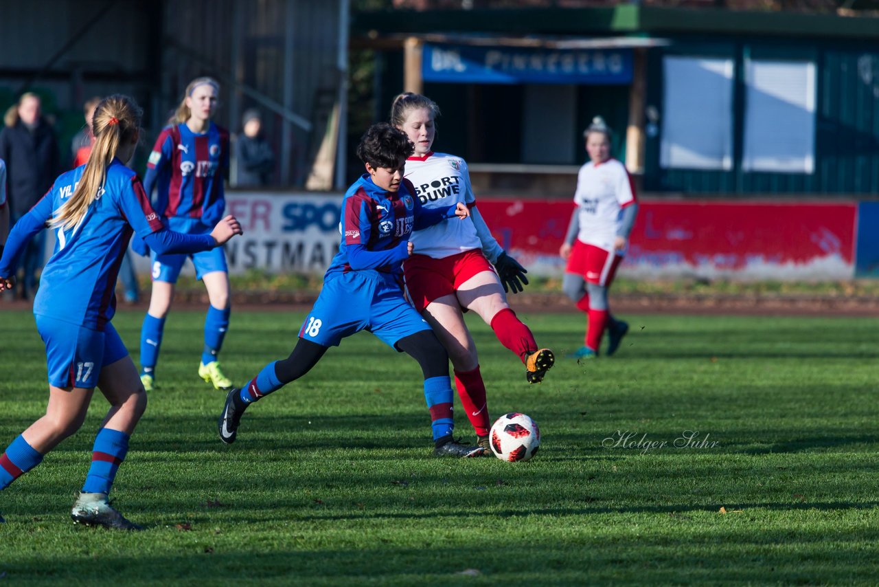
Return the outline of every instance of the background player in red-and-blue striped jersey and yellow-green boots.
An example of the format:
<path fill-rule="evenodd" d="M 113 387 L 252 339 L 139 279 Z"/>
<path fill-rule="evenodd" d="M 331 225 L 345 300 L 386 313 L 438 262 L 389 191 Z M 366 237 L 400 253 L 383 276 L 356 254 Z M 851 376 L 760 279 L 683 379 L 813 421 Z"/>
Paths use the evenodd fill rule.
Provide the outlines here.
<path fill-rule="evenodd" d="M 211 121 L 219 93 L 219 84 L 210 77 L 190 82 L 174 123 L 163 129 L 149 155 L 143 187 L 149 195 L 156 188 L 154 208 L 173 231 L 206 234 L 222 217 L 226 205 L 223 179 L 229 176 L 229 133 Z M 137 239 L 134 248 L 146 252 Z M 192 258 L 195 275 L 204 282 L 210 301 L 199 376 L 216 389 L 232 386 L 217 361 L 231 311 L 229 268 L 222 247 L 191 255 L 153 251 L 152 294 L 141 329 L 141 381 L 148 392 L 155 385 L 165 318 L 187 256 Z"/>

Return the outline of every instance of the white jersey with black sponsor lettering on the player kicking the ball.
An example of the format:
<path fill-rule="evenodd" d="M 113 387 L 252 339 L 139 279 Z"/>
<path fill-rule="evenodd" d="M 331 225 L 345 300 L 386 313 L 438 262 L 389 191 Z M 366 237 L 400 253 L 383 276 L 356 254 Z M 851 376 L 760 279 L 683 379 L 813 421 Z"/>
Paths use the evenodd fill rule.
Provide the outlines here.
<path fill-rule="evenodd" d="M 415 194 L 426 208 L 454 206 L 458 202 L 472 205 L 476 202 L 473 187 L 470 187 L 467 163 L 460 157 L 433 152 L 424 157 L 410 157 L 406 160 L 405 177 L 415 186 Z M 409 240 L 415 253 L 434 259 L 481 249 L 483 246 L 476 234 L 476 226 L 469 218 L 451 218 L 413 231 Z"/>

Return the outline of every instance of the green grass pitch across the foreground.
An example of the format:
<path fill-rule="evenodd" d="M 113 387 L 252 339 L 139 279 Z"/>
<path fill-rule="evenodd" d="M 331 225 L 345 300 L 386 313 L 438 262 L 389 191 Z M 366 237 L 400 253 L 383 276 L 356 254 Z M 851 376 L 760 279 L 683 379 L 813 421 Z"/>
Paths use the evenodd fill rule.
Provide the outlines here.
<path fill-rule="evenodd" d="M 141 318 L 114 319 L 135 361 Z M 582 344 L 574 313 L 524 318 L 559 355 Z M 69 520 L 96 397 L 83 429 L 0 493 L 0 584 L 875 584 L 879 323 L 624 318 L 617 356 L 560 360 L 534 386 L 471 321 L 492 415 L 541 426 L 537 457 L 507 464 L 432 459 L 418 365 L 369 334 L 251 407 L 225 446 L 222 393 L 195 373 L 202 314 L 175 312 L 113 488 L 148 531 Z M 287 356 L 302 315 L 232 319 L 222 360 L 243 383 Z M 0 322 L 5 446 L 42 415 L 46 366 L 30 313 Z M 676 447 L 687 430 L 707 442 Z M 614 446 L 627 431 L 656 448 Z"/>

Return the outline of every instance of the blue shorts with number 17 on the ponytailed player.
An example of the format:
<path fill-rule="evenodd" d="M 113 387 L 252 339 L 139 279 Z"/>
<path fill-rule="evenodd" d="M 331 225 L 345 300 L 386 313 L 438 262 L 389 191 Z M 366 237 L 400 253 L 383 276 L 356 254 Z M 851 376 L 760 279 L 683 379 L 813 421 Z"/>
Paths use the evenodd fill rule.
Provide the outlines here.
<path fill-rule="evenodd" d="M 106 365 L 128 356 L 125 344 L 109 322 L 99 331 L 40 314 L 36 319 L 37 331 L 46 343 L 49 385 L 95 387 Z"/>

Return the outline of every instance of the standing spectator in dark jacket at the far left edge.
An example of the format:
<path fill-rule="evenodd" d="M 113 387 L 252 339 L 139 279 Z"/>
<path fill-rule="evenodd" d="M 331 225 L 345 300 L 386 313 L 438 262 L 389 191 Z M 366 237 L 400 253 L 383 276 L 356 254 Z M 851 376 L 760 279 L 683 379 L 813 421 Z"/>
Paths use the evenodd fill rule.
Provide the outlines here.
<path fill-rule="evenodd" d="M 0 159 L 6 162 L 6 194 L 14 224 L 27 214 L 46 194 L 59 167 L 58 142 L 54 130 L 40 112 L 40 96 L 22 94 L 6 111 L 5 127 L 0 131 Z M 25 249 L 21 260 L 24 278 L 19 282 L 19 296 L 26 298 L 36 290 L 36 273 L 42 267 L 46 248 L 46 231 L 40 231 Z"/>

